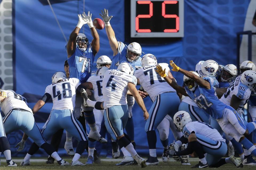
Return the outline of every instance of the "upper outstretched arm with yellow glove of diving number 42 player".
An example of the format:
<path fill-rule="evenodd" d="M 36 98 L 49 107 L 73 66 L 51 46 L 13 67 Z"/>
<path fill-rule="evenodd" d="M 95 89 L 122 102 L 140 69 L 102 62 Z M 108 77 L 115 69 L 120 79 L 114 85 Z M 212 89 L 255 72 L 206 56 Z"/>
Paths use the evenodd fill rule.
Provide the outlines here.
<path fill-rule="evenodd" d="M 194 80 L 199 86 L 204 87 L 206 89 L 211 89 L 211 85 L 208 81 L 206 81 L 205 79 L 191 73 L 190 71 L 184 70 L 182 68 L 179 68 L 172 60 L 170 61 L 170 65 L 171 67 L 173 67 L 173 71 L 179 71 L 182 74 L 184 74 L 185 76 L 187 76 L 188 78 L 191 78 L 192 80 Z"/>

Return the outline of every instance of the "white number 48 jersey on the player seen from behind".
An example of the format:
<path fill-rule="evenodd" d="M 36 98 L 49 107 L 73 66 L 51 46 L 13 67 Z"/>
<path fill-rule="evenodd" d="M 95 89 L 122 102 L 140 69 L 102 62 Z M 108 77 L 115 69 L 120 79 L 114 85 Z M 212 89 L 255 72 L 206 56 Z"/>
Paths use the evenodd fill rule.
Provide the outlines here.
<path fill-rule="evenodd" d="M 47 86 L 45 93 L 51 95 L 53 109 L 70 109 L 73 111 L 76 90 L 79 85 L 80 81 L 77 78 L 68 78 Z"/>

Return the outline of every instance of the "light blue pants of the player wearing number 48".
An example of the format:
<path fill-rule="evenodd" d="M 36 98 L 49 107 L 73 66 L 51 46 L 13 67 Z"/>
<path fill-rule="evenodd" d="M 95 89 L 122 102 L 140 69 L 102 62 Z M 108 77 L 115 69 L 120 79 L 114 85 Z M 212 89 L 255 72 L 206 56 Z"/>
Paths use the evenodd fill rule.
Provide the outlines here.
<path fill-rule="evenodd" d="M 70 109 L 53 109 L 43 126 L 42 134 L 48 140 L 59 129 L 65 129 L 77 141 L 86 141 L 87 136 L 81 123 Z"/>

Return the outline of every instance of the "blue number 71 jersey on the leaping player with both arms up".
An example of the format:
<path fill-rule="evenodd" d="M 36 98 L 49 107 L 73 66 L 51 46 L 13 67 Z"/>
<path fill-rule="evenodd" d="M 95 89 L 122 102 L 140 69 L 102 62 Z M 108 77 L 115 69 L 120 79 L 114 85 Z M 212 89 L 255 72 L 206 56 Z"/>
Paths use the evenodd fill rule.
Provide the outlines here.
<path fill-rule="evenodd" d="M 85 52 L 76 48 L 74 54 L 67 59 L 69 63 L 69 77 L 77 78 L 81 83 L 86 82 L 91 76 L 91 69 L 94 62 L 91 43 L 89 43 L 88 46 L 89 48 L 87 48 Z"/>

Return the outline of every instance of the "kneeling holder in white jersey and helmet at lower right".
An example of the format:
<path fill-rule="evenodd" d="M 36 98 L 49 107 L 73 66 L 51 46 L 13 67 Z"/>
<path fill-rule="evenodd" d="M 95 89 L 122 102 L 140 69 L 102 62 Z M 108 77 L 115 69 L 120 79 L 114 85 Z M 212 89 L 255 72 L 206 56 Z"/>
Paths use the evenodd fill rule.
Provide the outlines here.
<path fill-rule="evenodd" d="M 236 167 L 243 166 L 234 156 L 222 158 L 227 153 L 225 139 L 210 125 L 199 121 L 192 122 L 189 113 L 185 111 L 177 112 L 173 120 L 177 130 L 182 131 L 183 136 L 188 139 L 188 143 L 185 150 L 170 150 L 171 155 L 182 156 L 195 152 L 199 163 L 192 168 L 220 167 L 226 163 L 234 164 Z M 204 153 L 207 153 L 206 158 Z"/>

